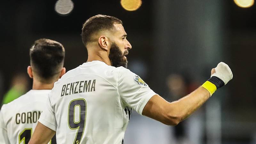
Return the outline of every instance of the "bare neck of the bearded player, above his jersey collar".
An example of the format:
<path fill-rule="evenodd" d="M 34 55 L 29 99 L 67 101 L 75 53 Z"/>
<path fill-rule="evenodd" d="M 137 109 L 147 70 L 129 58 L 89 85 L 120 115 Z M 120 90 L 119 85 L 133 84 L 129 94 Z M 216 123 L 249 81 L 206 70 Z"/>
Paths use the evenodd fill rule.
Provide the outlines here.
<path fill-rule="evenodd" d="M 111 66 L 111 61 L 109 60 L 107 52 L 89 52 L 88 51 L 88 59 L 87 62 L 93 61 L 93 60 L 99 60 L 102 62 L 105 62 L 107 65 Z"/>

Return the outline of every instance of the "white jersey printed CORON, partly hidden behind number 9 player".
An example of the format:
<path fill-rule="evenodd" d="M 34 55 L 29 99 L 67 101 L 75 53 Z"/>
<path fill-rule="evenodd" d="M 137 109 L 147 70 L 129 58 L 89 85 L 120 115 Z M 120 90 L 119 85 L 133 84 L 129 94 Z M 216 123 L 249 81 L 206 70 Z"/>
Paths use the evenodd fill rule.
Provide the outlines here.
<path fill-rule="evenodd" d="M 51 90 L 30 90 L 0 111 L 0 144 L 27 144 Z"/>

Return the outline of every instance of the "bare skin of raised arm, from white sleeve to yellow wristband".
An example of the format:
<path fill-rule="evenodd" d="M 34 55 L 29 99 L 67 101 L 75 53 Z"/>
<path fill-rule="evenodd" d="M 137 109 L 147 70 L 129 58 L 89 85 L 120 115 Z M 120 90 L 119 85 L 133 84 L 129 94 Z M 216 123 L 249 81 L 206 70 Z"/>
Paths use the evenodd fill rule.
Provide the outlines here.
<path fill-rule="evenodd" d="M 142 115 L 167 125 L 177 125 L 201 107 L 209 97 L 210 93 L 203 87 L 171 103 L 154 95 L 143 109 Z"/>

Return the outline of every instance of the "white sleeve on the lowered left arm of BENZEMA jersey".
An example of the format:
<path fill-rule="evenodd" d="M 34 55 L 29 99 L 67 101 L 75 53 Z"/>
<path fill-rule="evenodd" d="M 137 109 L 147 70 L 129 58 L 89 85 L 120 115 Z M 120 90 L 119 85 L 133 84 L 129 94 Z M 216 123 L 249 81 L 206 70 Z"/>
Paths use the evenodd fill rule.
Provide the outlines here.
<path fill-rule="evenodd" d="M 50 94 L 49 94 L 50 95 Z M 48 96 L 48 100 L 46 103 L 46 107 L 44 108 L 40 118 L 38 120 L 41 124 L 46 127 L 52 129 L 53 131 L 57 131 L 57 121 L 55 118 L 55 113 L 51 105 L 50 97 Z"/>

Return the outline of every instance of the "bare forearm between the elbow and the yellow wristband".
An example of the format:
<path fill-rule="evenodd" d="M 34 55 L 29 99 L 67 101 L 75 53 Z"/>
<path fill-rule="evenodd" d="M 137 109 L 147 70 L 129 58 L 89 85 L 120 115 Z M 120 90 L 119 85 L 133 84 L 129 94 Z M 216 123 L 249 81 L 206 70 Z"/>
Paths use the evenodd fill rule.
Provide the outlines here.
<path fill-rule="evenodd" d="M 173 101 L 169 104 L 168 114 L 182 121 L 200 108 L 210 97 L 210 93 L 203 87 L 199 87 L 194 92 L 180 100 Z"/>

